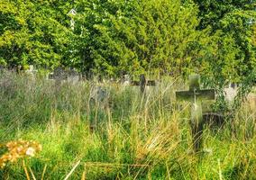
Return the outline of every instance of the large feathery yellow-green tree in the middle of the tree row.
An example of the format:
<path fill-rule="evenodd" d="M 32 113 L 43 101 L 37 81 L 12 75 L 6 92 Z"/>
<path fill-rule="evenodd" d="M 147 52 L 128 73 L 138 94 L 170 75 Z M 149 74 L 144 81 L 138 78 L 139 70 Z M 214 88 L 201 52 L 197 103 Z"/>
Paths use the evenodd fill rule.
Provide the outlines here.
<path fill-rule="evenodd" d="M 74 52 L 78 67 L 108 75 L 146 71 L 178 74 L 196 40 L 197 8 L 179 1 L 79 1 Z"/>

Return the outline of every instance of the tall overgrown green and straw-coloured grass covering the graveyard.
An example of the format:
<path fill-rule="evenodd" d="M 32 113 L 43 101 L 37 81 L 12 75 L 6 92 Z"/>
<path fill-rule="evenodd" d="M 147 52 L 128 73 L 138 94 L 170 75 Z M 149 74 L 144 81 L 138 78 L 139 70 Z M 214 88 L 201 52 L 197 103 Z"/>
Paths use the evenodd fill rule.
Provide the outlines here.
<path fill-rule="evenodd" d="M 255 103 L 242 103 L 221 127 L 205 125 L 195 153 L 190 104 L 175 97 L 187 88 L 170 77 L 142 94 L 111 81 L 57 86 L 2 74 L 0 155 L 13 140 L 41 148 L 6 161 L 0 179 L 255 179 Z M 203 102 L 203 112 L 210 103 Z"/>

